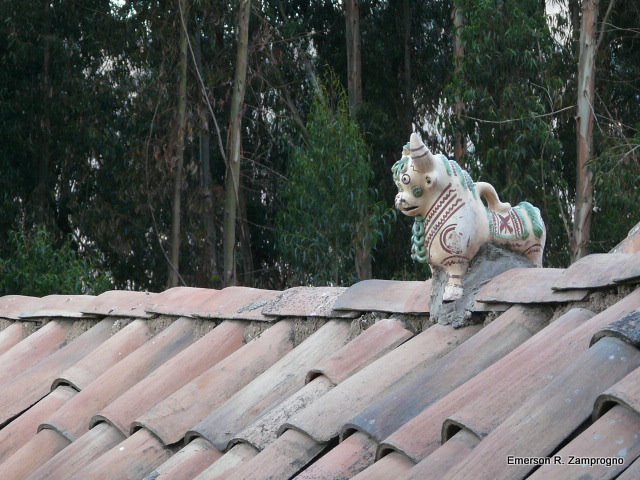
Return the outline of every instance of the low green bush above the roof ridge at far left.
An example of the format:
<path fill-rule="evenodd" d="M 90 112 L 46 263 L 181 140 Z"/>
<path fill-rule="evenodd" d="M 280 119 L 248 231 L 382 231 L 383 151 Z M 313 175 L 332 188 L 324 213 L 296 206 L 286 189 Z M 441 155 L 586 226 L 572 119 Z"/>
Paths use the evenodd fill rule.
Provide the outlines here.
<path fill-rule="evenodd" d="M 97 262 L 81 257 L 70 241 L 56 245 L 44 228 L 9 234 L 10 256 L 0 258 L 0 294 L 94 294 L 111 288 Z"/>

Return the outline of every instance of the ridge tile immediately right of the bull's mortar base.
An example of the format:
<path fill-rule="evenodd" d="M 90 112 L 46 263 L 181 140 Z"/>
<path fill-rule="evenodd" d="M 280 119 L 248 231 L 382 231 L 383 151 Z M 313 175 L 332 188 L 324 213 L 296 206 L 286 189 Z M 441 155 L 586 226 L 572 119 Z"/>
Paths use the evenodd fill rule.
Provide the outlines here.
<path fill-rule="evenodd" d="M 477 302 L 564 303 L 584 300 L 588 290 L 552 290 L 564 270 L 561 268 L 513 268 L 501 273 L 476 296 Z"/>

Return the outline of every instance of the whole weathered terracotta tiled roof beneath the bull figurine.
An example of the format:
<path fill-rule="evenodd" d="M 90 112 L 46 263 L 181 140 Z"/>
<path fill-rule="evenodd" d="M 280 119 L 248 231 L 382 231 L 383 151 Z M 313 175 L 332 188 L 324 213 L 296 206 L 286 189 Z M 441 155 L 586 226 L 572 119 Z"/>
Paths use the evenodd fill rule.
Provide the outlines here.
<path fill-rule="evenodd" d="M 1 297 L 0 478 L 637 480 L 639 230 L 460 329 L 430 282 Z"/>

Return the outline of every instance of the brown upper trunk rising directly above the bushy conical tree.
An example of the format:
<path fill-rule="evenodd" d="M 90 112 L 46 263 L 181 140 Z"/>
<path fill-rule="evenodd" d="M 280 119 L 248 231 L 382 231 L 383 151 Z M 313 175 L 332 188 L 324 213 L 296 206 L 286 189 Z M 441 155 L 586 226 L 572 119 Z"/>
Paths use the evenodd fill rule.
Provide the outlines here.
<path fill-rule="evenodd" d="M 345 0 L 345 22 L 347 40 L 347 87 L 349 112 L 362 103 L 362 48 L 360 40 L 360 4 L 358 0 Z"/>

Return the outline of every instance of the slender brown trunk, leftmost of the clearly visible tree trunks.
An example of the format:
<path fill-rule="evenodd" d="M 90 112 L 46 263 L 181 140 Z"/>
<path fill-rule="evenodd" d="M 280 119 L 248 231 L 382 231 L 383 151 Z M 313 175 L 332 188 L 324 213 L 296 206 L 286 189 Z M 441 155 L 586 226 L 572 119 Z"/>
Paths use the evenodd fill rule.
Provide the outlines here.
<path fill-rule="evenodd" d="M 167 287 L 178 285 L 180 278 L 180 211 L 182 200 L 182 169 L 184 165 L 184 135 L 187 124 L 187 0 L 178 0 L 184 22 L 180 22 L 180 65 L 178 67 L 178 112 L 175 124 L 174 161 L 175 173 L 173 179 L 173 211 L 171 220 L 171 253 L 169 257 L 169 279 Z"/>

